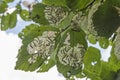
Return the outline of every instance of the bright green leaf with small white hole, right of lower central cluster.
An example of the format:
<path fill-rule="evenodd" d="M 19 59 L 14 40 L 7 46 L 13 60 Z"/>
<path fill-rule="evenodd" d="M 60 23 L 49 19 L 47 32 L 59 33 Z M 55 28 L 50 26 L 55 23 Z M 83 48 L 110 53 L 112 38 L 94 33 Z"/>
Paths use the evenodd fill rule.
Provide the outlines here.
<path fill-rule="evenodd" d="M 84 73 L 87 77 L 92 79 L 101 80 L 99 78 L 101 71 L 101 54 L 100 51 L 94 47 L 89 47 L 84 55 Z M 94 79 L 94 80 L 95 80 Z"/>

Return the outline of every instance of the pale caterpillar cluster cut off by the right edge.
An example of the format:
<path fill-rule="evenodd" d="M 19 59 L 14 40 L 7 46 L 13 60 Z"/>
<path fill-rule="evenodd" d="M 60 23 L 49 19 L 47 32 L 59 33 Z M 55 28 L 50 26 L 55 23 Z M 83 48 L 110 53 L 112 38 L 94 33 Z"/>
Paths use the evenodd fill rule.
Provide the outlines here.
<path fill-rule="evenodd" d="M 115 55 L 117 56 L 117 59 L 120 60 L 120 27 L 117 30 L 117 35 L 115 37 L 115 47 L 114 47 L 114 51 L 115 51 Z"/>

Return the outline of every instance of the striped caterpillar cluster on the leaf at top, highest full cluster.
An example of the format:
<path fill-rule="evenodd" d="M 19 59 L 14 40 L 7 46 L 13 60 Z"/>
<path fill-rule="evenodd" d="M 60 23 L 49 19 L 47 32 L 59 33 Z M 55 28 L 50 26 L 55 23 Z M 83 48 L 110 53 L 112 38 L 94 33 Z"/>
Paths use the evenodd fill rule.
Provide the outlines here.
<path fill-rule="evenodd" d="M 45 18 L 52 25 L 58 25 L 64 18 L 68 15 L 62 7 L 57 6 L 47 6 L 44 10 Z"/>

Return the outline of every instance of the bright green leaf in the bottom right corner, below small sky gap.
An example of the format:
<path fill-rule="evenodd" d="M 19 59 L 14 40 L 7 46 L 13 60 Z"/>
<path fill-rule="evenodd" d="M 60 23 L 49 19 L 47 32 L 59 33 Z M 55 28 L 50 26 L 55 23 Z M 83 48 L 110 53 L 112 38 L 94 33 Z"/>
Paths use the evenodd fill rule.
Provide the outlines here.
<path fill-rule="evenodd" d="M 108 62 L 102 61 L 102 69 L 101 69 L 101 78 L 102 80 L 117 80 L 116 74 L 120 69 L 120 61 L 118 61 L 115 53 L 114 53 L 114 46 L 111 51 L 111 56 Z"/>

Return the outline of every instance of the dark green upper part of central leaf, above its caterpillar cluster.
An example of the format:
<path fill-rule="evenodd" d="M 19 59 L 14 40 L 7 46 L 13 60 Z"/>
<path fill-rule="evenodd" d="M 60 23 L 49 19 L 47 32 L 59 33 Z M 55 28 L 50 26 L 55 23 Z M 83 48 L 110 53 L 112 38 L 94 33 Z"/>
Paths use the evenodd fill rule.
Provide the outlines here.
<path fill-rule="evenodd" d="M 84 31 L 74 31 L 70 30 L 70 45 L 76 46 L 78 43 L 84 45 L 85 49 L 87 48 L 87 41 L 85 39 L 86 35 Z"/>

